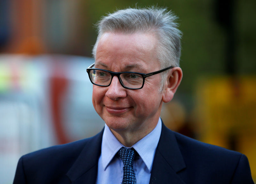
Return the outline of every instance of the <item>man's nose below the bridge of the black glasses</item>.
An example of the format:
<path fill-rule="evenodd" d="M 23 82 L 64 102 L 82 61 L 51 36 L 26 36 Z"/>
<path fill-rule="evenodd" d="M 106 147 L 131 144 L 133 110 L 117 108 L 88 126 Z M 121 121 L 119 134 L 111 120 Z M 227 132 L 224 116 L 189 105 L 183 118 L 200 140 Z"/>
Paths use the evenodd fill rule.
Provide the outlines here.
<path fill-rule="evenodd" d="M 126 89 L 120 84 L 117 76 L 114 76 L 105 94 L 109 99 L 116 101 L 126 97 Z"/>

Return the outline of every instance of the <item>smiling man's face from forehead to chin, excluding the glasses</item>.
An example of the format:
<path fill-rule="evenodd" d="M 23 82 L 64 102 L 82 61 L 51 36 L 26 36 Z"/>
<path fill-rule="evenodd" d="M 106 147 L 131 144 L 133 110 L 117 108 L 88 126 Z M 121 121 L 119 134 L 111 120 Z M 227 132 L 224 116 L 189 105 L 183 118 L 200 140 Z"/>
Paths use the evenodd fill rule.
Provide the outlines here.
<path fill-rule="evenodd" d="M 94 68 L 113 72 L 150 73 L 160 68 L 155 36 L 151 34 L 104 33 L 100 38 Z M 92 103 L 96 112 L 115 132 L 149 133 L 162 107 L 161 75 L 145 79 L 142 89 L 125 89 L 114 76 L 110 86 L 93 85 Z"/>

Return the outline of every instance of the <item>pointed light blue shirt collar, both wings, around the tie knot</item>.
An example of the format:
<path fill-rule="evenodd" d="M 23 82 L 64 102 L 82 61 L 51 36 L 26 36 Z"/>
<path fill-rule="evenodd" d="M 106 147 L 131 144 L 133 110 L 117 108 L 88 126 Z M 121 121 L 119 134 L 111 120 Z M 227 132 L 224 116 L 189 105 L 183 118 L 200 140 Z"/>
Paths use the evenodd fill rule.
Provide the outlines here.
<path fill-rule="evenodd" d="M 156 147 L 161 135 L 161 129 L 162 121 L 159 118 L 156 127 L 132 146 L 148 167 L 149 172 L 151 172 L 152 169 Z M 101 146 L 101 158 L 104 170 L 106 170 L 117 151 L 122 147 L 124 147 L 124 145 L 116 139 L 109 127 L 105 124 Z"/>

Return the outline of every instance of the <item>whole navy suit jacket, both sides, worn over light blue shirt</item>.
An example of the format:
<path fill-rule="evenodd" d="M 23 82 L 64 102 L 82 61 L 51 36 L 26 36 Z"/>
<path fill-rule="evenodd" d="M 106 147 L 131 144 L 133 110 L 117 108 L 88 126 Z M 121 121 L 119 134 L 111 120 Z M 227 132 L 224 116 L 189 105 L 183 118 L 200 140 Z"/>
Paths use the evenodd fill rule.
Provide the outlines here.
<path fill-rule="evenodd" d="M 103 131 L 22 156 L 14 184 L 94 184 Z M 241 153 L 190 139 L 162 125 L 150 184 L 253 184 Z"/>

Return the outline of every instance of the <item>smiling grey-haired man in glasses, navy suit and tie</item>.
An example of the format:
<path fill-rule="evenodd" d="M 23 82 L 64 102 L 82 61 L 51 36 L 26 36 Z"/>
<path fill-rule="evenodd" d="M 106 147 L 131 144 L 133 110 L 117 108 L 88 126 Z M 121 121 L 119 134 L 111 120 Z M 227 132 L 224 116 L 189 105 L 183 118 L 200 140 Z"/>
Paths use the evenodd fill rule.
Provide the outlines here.
<path fill-rule="evenodd" d="M 105 121 L 96 136 L 22 156 L 20 183 L 253 183 L 246 156 L 167 129 L 160 119 L 181 78 L 181 33 L 165 9 L 104 17 L 87 69 Z"/>

